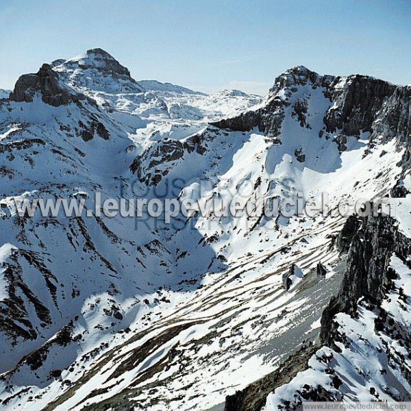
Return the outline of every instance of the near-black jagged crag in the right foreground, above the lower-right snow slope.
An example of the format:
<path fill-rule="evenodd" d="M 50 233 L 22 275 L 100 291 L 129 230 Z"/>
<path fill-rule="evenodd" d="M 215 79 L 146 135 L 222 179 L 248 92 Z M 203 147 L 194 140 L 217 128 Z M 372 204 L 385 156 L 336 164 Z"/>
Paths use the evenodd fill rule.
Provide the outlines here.
<path fill-rule="evenodd" d="M 353 233 L 353 227 L 360 224 Z M 390 256 L 395 253 L 406 260 L 411 253 L 411 240 L 398 232 L 395 220 L 389 216 L 369 216 L 358 223 L 351 219 L 345 231 L 352 238 L 347 271 L 338 295 L 331 299 L 321 319 L 321 341 L 333 349 L 338 349 L 334 344 L 337 334 L 334 316 L 338 312 L 355 314 L 360 297 L 380 303 L 390 284 Z M 347 249 L 347 240 L 340 244 L 343 250 Z"/>

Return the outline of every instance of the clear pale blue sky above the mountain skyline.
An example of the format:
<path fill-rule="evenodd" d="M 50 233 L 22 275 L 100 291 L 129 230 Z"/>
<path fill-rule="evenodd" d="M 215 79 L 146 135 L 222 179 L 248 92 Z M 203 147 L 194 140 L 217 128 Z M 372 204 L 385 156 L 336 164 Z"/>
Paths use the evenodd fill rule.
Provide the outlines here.
<path fill-rule="evenodd" d="M 0 88 L 94 47 L 206 92 L 264 94 L 297 64 L 411 84 L 411 0 L 0 0 Z"/>

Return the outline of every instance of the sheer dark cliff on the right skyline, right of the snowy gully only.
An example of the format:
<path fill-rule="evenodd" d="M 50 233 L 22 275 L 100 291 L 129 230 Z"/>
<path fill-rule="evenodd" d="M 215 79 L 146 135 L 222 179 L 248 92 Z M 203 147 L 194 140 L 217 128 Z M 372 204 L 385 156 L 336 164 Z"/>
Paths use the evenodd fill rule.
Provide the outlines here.
<path fill-rule="evenodd" d="M 405 149 L 401 165 L 404 170 L 410 169 L 410 86 L 351 75 L 346 80 L 336 77 L 325 95 L 334 101 L 324 116 L 325 132 L 339 132 L 334 140 L 340 151 L 347 149 L 347 136 L 360 136 L 361 132 L 371 133 L 371 146 L 397 138 L 397 147 Z"/>

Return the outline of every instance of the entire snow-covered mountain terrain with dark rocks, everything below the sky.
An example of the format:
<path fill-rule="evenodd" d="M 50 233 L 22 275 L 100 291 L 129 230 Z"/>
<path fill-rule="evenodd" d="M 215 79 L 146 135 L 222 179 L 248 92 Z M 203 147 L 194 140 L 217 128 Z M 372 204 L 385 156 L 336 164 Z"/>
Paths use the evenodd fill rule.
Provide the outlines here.
<path fill-rule="evenodd" d="M 297 66 L 264 98 L 204 95 L 136 81 L 101 49 L 20 77 L 0 101 L 0 405 L 271 410 L 406 397 L 410 94 Z M 328 192 L 332 212 L 167 225 L 14 206 L 83 198 L 92 210 L 97 190 L 179 201 Z M 393 218 L 335 212 L 384 195 Z"/>

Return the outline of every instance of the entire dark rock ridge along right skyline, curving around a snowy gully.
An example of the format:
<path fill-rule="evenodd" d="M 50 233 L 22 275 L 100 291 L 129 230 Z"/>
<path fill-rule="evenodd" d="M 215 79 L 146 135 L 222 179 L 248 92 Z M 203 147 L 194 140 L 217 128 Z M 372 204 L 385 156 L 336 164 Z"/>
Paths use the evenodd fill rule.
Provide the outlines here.
<path fill-rule="evenodd" d="M 275 79 L 263 107 L 211 124 L 242 132 L 257 127 L 266 136 L 276 137 L 281 132 L 284 108 L 289 105 L 289 97 L 297 91 L 297 86 L 306 84 L 312 84 L 312 88 L 324 88 L 325 97 L 334 102 L 325 113 L 324 127 L 319 137 L 329 138 L 329 134 L 338 132 L 336 143 L 340 151 L 345 151 L 347 136 L 360 136 L 361 132 L 384 134 L 386 138 L 399 136 L 408 145 L 404 160 L 410 161 L 410 142 L 407 136 L 411 129 L 411 87 L 395 86 L 366 75 L 321 76 L 304 66 L 297 66 Z M 283 98 L 277 94 L 282 89 L 285 90 Z M 303 110 L 303 104 L 299 104 L 299 108 L 300 111 Z"/>

